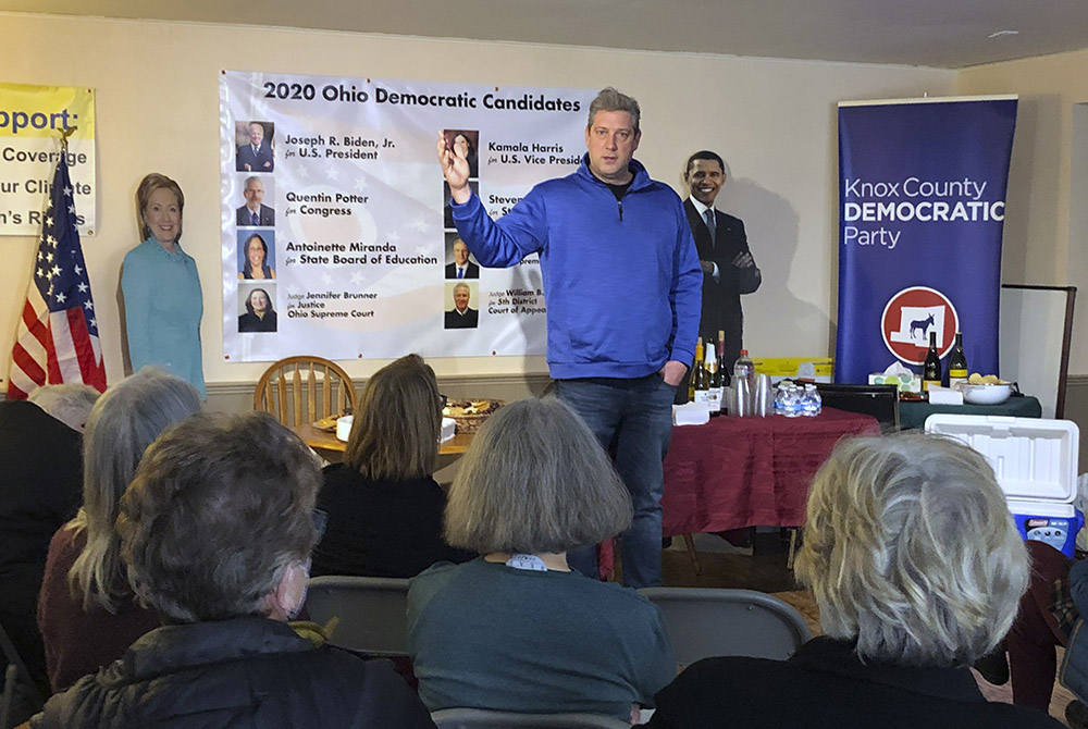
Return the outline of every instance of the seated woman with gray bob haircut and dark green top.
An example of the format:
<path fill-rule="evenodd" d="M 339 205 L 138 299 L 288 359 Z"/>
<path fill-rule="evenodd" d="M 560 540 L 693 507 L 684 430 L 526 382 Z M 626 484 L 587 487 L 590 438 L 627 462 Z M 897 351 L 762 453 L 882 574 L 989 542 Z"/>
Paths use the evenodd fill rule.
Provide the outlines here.
<path fill-rule="evenodd" d="M 630 720 L 676 672 L 657 608 L 572 571 L 631 501 L 589 427 L 557 399 L 507 405 L 449 490 L 446 540 L 482 557 L 412 580 L 408 647 L 431 711 L 584 712 Z"/>

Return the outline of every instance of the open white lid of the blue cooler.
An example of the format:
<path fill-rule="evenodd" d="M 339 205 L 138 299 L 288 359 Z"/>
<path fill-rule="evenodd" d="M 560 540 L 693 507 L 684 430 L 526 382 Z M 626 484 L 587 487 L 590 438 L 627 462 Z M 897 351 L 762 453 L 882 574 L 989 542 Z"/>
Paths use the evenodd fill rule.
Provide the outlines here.
<path fill-rule="evenodd" d="M 1080 430 L 1075 422 L 935 413 L 926 418 L 926 432 L 955 437 L 986 456 L 1011 502 L 1076 501 Z"/>

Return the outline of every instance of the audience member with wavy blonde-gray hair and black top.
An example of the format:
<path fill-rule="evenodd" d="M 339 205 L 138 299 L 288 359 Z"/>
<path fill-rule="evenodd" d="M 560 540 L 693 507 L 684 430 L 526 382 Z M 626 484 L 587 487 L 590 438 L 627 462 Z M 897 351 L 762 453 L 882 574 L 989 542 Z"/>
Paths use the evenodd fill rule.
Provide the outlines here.
<path fill-rule="evenodd" d="M 987 703 L 968 670 L 1002 639 L 1027 552 L 986 459 L 925 435 L 841 443 L 808 495 L 798 577 L 824 635 L 787 662 L 705 658 L 647 727 L 1061 727 Z"/>

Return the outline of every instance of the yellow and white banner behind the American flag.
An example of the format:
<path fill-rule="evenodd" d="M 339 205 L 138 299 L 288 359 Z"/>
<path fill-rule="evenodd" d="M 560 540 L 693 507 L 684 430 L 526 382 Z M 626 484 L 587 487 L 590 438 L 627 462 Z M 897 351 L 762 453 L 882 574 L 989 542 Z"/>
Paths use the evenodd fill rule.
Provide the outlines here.
<path fill-rule="evenodd" d="M 67 150 L 62 132 L 75 128 Z M 37 236 L 58 160 L 71 176 L 79 235 L 95 234 L 95 89 L 0 84 L 0 235 Z"/>

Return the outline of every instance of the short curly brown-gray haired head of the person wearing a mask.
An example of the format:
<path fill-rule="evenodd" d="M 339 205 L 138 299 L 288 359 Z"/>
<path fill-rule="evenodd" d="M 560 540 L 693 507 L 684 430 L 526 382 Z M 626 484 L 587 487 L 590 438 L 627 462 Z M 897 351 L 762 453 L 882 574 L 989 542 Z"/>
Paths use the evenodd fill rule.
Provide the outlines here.
<path fill-rule="evenodd" d="M 305 596 L 320 484 L 310 449 L 265 412 L 171 428 L 121 499 L 133 588 L 170 622 L 288 619 Z"/>

